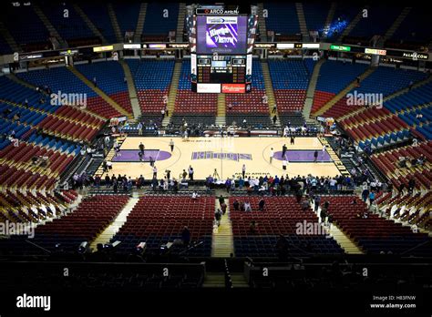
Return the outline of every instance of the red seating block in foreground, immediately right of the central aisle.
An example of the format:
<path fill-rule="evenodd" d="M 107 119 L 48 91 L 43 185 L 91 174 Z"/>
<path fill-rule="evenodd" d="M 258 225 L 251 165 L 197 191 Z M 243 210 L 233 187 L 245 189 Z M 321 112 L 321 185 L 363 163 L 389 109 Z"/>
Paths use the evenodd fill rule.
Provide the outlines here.
<path fill-rule="evenodd" d="M 249 201 L 252 211 L 234 210 L 234 199 L 239 202 Z M 230 218 L 237 257 L 276 257 L 275 245 L 280 234 L 288 240 L 290 256 L 343 253 L 336 241 L 326 238 L 324 234 L 298 234 L 298 224 L 303 226 L 303 221 L 314 223 L 314 226 L 320 225 L 314 211 L 303 211 L 293 197 L 265 197 L 263 211 L 258 210 L 259 200 L 260 197 L 256 196 L 230 198 Z M 256 221 L 255 232 L 249 229 L 252 220 Z"/>

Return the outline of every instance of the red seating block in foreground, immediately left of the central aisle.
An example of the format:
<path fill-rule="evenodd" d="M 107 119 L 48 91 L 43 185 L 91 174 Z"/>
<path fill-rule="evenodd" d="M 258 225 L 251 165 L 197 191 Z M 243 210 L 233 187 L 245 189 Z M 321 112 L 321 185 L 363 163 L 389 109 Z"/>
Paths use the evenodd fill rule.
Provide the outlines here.
<path fill-rule="evenodd" d="M 190 241 L 203 243 L 187 251 L 185 255 L 210 256 L 214 205 L 215 199 L 211 196 L 201 196 L 198 199 L 170 195 L 142 197 L 113 241 L 122 241 L 119 252 L 129 253 L 139 242 L 146 242 L 147 250 L 158 254 L 161 244 L 181 239 L 181 231 L 187 226 Z M 159 207 L 155 209 L 155 206 Z M 184 250 L 173 247 L 172 252 Z"/>

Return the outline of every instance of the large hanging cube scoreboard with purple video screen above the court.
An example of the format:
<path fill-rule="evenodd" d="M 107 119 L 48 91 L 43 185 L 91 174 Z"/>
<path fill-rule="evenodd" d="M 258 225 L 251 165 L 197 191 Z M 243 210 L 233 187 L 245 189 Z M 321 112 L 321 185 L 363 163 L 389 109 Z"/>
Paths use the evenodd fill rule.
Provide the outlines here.
<path fill-rule="evenodd" d="M 202 11 L 202 10 L 201 10 Z M 254 16 L 197 11 L 190 35 L 190 79 L 198 93 L 247 93 L 252 82 Z M 205 14 L 210 12 L 210 14 Z M 252 36 L 255 35 L 255 31 Z"/>

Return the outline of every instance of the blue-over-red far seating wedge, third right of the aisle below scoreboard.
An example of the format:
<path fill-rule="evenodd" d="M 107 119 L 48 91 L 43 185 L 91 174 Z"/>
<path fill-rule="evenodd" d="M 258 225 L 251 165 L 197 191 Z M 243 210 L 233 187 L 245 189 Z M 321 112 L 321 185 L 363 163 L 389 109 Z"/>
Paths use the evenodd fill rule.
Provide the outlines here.
<path fill-rule="evenodd" d="M 326 60 L 321 66 L 312 112 L 318 111 L 340 91 L 352 83 L 356 77 L 363 74 L 367 66 L 365 64 L 349 64 Z"/>

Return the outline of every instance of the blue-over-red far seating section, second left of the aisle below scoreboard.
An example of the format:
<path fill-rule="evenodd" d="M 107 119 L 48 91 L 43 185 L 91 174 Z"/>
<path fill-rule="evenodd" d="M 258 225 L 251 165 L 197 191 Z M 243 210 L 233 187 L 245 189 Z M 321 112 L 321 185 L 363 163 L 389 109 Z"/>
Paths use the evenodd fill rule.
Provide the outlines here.
<path fill-rule="evenodd" d="M 165 107 L 164 96 L 168 96 L 174 70 L 174 61 L 127 59 L 134 77 L 139 107 L 143 115 L 158 115 Z"/>

